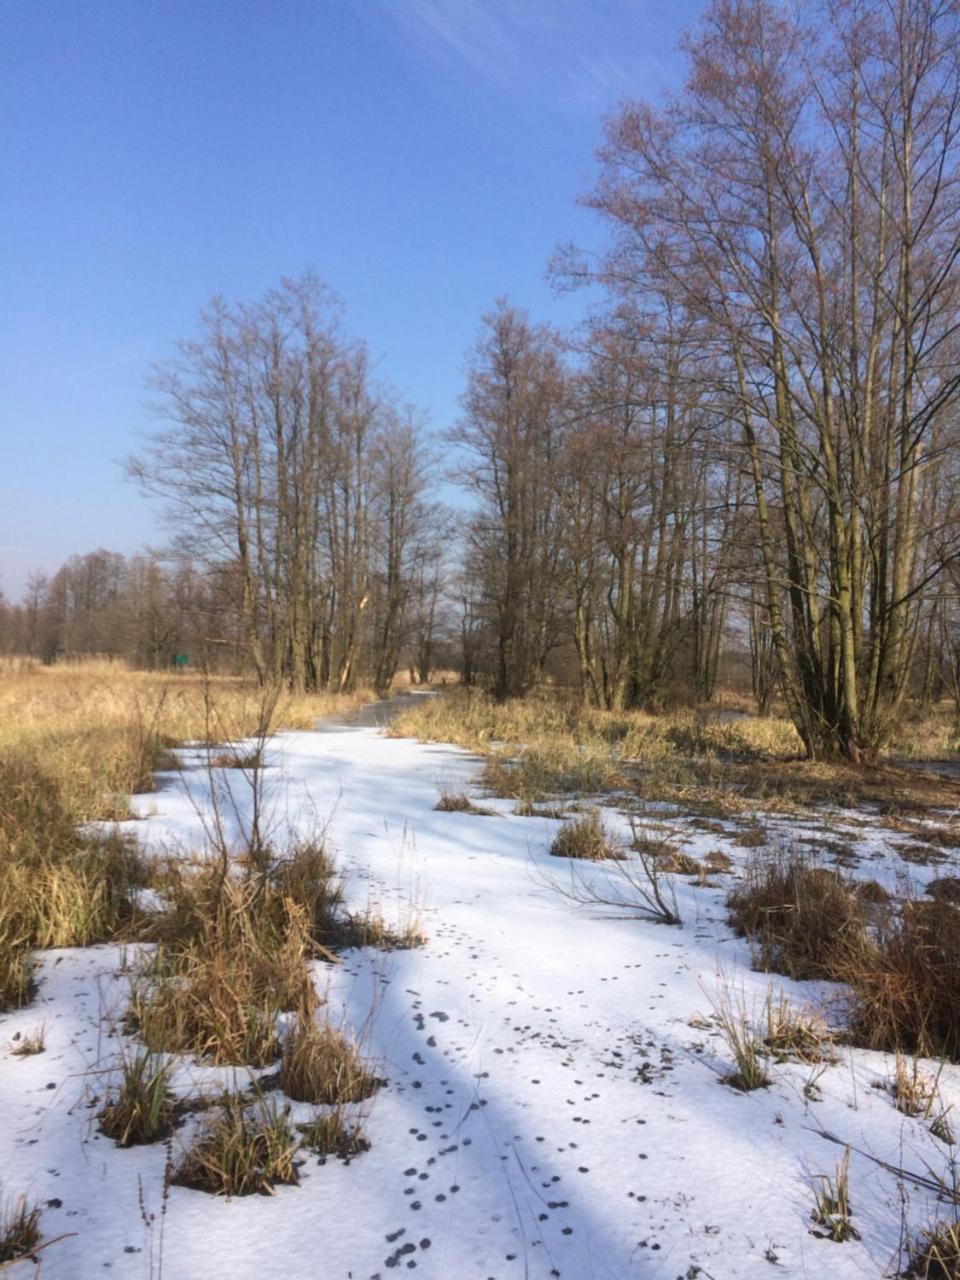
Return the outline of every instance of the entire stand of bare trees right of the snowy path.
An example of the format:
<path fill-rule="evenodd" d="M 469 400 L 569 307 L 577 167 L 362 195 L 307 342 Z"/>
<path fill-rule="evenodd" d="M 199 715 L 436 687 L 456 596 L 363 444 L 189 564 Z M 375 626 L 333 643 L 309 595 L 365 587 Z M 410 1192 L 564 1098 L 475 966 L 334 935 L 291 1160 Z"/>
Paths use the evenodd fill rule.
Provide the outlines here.
<path fill-rule="evenodd" d="M 506 695 L 566 635 L 620 707 L 678 663 L 709 696 L 733 617 L 760 704 L 869 759 L 955 678 L 960 6 L 714 0 L 686 52 L 608 122 L 609 251 L 559 264 L 607 315 L 476 348 L 468 639 Z"/>

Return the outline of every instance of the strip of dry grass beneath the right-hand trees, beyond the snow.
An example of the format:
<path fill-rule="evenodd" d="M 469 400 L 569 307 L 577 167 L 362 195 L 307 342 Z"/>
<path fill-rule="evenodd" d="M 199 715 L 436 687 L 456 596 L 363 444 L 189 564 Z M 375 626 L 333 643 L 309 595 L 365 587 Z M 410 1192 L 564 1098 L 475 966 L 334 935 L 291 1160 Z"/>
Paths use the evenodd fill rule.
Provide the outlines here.
<path fill-rule="evenodd" d="M 412 707 L 390 732 L 477 753 L 485 785 L 521 806 L 627 790 L 714 823 L 749 822 L 758 810 L 796 815 L 823 806 L 868 805 L 891 818 L 960 810 L 960 780 L 891 763 L 854 768 L 804 760 L 792 724 L 776 717 L 604 712 L 557 691 L 495 703 L 454 690 Z M 897 746 L 922 755 L 920 744 L 918 730 Z"/>

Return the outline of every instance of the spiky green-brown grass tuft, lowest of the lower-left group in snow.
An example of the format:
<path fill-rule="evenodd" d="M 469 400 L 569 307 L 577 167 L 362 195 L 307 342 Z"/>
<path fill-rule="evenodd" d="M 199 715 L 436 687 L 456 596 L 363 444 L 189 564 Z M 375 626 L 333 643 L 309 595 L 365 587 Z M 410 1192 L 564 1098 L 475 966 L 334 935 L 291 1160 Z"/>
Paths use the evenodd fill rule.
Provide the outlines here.
<path fill-rule="evenodd" d="M 296 1138 L 287 1112 L 274 1100 L 255 1102 L 225 1094 L 173 1170 L 175 1187 L 212 1196 L 270 1196 L 297 1181 Z"/>

